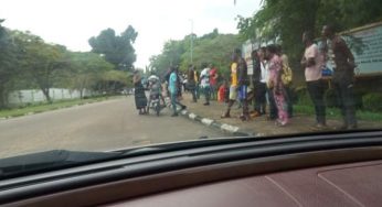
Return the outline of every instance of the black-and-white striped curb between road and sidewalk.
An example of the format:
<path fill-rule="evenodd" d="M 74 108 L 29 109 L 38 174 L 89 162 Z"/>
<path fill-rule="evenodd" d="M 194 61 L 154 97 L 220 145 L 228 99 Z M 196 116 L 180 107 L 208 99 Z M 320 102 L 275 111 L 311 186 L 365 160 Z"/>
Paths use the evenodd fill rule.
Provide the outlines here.
<path fill-rule="evenodd" d="M 188 110 L 181 110 L 180 108 L 178 109 L 178 112 L 187 118 L 187 119 L 190 119 L 192 121 L 195 121 L 195 122 L 200 122 L 202 123 L 203 126 L 206 126 L 209 128 L 212 128 L 212 129 L 216 129 L 216 130 L 220 130 L 220 131 L 223 131 L 225 133 L 230 133 L 230 134 L 233 134 L 235 137 L 254 137 L 255 134 L 253 132 L 248 132 L 248 131 L 244 131 L 243 129 L 241 129 L 240 127 L 236 127 L 236 126 L 231 126 L 231 124 L 227 124 L 227 123 L 221 123 L 214 119 L 210 119 L 210 118 L 204 118 L 204 117 L 201 117 L 199 115 L 195 115 L 193 112 L 190 112 Z"/>

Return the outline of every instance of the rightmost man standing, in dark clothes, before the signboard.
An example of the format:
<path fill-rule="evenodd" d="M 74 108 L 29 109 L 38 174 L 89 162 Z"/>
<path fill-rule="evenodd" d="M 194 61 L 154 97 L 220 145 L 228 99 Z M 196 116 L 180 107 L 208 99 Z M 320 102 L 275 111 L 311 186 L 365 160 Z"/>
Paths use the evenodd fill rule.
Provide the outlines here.
<path fill-rule="evenodd" d="M 343 117 L 341 129 L 357 129 L 354 102 L 354 56 L 347 43 L 336 35 L 331 25 L 322 28 L 322 43 L 327 45 L 329 61 L 333 62 L 332 85 Z"/>

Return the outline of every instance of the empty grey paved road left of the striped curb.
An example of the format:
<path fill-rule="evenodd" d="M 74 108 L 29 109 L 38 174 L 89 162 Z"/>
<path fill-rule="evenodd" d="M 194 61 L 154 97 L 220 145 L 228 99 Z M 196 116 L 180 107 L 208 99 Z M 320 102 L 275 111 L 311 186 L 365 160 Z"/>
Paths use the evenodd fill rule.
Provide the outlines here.
<path fill-rule="evenodd" d="M 52 149 L 105 151 L 150 143 L 223 137 L 219 131 L 170 117 L 138 116 L 134 97 L 0 120 L 0 157 Z"/>

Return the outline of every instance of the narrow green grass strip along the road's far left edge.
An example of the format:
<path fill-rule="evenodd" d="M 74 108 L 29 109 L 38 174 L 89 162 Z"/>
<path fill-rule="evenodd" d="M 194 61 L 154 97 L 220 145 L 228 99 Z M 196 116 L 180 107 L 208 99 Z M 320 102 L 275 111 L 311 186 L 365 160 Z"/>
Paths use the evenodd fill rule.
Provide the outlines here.
<path fill-rule="evenodd" d="M 87 98 L 87 99 L 59 100 L 59 101 L 54 101 L 52 103 L 49 103 L 49 102 L 33 103 L 30 106 L 0 110 L 0 118 L 20 117 L 20 116 L 24 116 L 24 115 L 39 113 L 39 112 L 44 112 L 44 111 L 50 111 L 50 110 L 68 108 L 68 107 L 73 107 L 73 106 L 97 102 L 97 101 L 102 101 L 102 100 L 113 99 L 116 97 L 117 96 L 95 97 L 95 98 Z"/>

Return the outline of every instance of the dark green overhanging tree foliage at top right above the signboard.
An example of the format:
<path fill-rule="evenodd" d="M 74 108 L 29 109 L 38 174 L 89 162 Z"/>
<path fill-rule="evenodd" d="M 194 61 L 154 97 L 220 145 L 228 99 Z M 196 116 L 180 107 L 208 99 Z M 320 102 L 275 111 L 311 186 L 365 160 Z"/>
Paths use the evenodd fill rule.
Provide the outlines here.
<path fill-rule="evenodd" d="M 242 40 L 280 43 L 289 56 L 289 64 L 298 72 L 295 74 L 304 76 L 299 66 L 304 31 L 312 31 L 319 37 L 325 24 L 333 24 L 337 31 L 344 31 L 380 20 L 380 0 L 263 0 L 261 10 L 253 17 L 238 17 L 237 29 Z"/>

